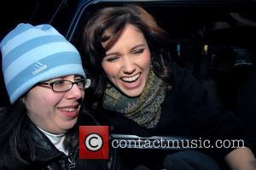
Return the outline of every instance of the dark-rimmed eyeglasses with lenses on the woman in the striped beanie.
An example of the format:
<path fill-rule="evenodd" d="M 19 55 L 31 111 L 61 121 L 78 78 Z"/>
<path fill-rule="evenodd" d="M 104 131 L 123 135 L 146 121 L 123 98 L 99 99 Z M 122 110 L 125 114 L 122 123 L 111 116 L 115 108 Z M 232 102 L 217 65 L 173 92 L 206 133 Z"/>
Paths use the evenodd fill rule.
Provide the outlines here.
<path fill-rule="evenodd" d="M 89 88 L 90 79 L 79 79 L 75 82 L 71 82 L 69 80 L 56 80 L 55 82 L 39 82 L 38 84 L 49 85 L 54 92 L 67 92 L 74 84 L 78 85 L 80 89 Z"/>

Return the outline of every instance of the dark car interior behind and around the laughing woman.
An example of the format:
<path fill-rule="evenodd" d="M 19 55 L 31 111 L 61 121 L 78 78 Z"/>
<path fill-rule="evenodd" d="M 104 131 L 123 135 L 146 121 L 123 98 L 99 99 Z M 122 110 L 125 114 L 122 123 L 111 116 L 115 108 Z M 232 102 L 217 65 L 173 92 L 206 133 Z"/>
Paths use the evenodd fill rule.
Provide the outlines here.
<path fill-rule="evenodd" d="M 220 110 L 235 114 L 242 122 L 254 141 L 256 154 L 256 4 L 205 2 L 142 1 L 136 4 L 146 8 L 168 32 L 176 43 L 174 60 L 202 83 L 212 103 Z M 96 8 L 122 3 L 129 2 L 84 3 L 67 37 L 81 48 L 81 31 L 87 17 Z M 55 18 L 58 17 L 56 14 Z M 55 22 L 59 21 L 53 20 Z M 3 77 L 1 107 L 8 104 L 2 82 Z"/>

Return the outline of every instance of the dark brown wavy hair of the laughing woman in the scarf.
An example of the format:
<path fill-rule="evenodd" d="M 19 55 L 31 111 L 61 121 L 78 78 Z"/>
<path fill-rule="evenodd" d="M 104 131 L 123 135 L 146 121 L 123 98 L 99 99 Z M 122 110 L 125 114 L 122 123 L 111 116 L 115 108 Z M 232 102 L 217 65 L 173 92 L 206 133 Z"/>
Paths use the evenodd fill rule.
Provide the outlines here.
<path fill-rule="evenodd" d="M 82 37 L 85 67 L 92 79 L 90 101 L 87 101 L 92 107 L 102 101 L 108 82 L 102 69 L 102 59 L 128 24 L 136 26 L 143 33 L 148 42 L 155 74 L 169 84 L 167 89 L 172 88 L 171 52 L 175 46 L 153 16 L 138 5 L 100 8 L 90 15 Z M 106 48 L 103 48 L 102 42 L 107 41 L 109 42 Z"/>

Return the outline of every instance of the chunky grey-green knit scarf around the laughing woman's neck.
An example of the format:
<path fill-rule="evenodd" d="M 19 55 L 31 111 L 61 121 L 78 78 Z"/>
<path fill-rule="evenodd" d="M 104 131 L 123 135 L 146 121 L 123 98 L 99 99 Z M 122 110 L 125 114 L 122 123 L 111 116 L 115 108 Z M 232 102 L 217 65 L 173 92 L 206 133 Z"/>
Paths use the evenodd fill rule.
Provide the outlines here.
<path fill-rule="evenodd" d="M 103 96 L 103 107 L 118 111 L 140 126 L 153 128 L 160 120 L 160 109 L 166 96 L 166 83 L 150 71 L 143 94 L 127 97 L 109 85 Z"/>

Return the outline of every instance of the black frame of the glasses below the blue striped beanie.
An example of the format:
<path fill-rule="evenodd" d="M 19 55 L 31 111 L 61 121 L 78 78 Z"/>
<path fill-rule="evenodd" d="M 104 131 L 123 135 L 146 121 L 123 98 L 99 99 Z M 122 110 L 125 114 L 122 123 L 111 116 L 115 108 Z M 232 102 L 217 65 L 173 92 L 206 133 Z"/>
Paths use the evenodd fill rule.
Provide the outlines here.
<path fill-rule="evenodd" d="M 69 86 L 68 88 L 64 89 L 64 90 L 58 90 L 56 89 L 56 86 L 58 85 L 58 83 L 60 82 L 68 82 Z M 82 82 L 84 84 L 83 88 L 79 87 L 79 82 Z M 85 78 L 85 79 L 79 79 L 78 81 L 72 82 L 69 80 L 56 80 L 54 82 L 38 82 L 38 84 L 44 84 L 44 85 L 49 85 L 52 89 L 52 91 L 54 92 L 67 92 L 68 90 L 70 90 L 71 88 L 73 88 L 73 85 L 76 84 L 80 89 L 85 89 L 85 88 L 89 88 L 90 87 L 90 79 L 89 78 Z"/>

